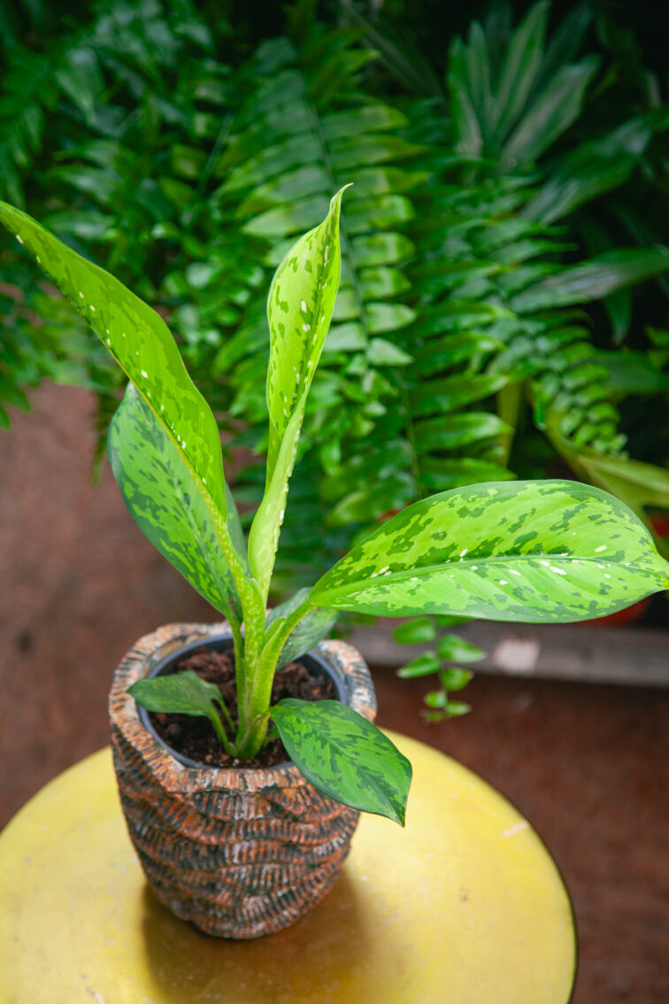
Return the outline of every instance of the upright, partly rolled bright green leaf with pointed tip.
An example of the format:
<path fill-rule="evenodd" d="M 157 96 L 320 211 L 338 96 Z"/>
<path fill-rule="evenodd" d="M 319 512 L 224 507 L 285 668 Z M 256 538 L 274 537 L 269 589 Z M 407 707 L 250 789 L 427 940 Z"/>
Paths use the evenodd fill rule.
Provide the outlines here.
<path fill-rule="evenodd" d="M 267 302 L 270 324 L 267 481 L 249 537 L 251 567 L 265 592 L 272 574 L 307 394 L 339 288 L 339 212 L 343 192 L 341 189 L 332 199 L 323 223 L 301 237 L 288 252 L 272 280 Z"/>

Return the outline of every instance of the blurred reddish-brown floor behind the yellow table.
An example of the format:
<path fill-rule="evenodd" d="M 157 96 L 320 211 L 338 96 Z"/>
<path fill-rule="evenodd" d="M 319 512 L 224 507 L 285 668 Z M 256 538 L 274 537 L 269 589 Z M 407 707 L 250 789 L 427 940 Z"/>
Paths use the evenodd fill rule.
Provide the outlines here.
<path fill-rule="evenodd" d="M 106 744 L 110 674 L 140 635 L 213 619 L 108 469 L 91 486 L 89 397 L 47 387 L 33 404 L 0 433 L 0 824 Z M 433 727 L 424 683 L 388 670 L 375 683 L 382 725 L 475 770 L 544 836 L 576 909 L 575 1004 L 666 1004 L 669 692 L 480 677 L 473 713 Z"/>

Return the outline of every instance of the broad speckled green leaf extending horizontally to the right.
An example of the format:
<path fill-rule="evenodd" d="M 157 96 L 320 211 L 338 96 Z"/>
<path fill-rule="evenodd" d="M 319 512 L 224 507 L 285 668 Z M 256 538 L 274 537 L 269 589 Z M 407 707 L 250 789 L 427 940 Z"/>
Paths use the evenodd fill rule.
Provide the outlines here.
<path fill-rule="evenodd" d="M 669 585 L 618 499 L 569 481 L 474 485 L 409 506 L 314 586 L 314 604 L 388 616 L 585 620 Z"/>

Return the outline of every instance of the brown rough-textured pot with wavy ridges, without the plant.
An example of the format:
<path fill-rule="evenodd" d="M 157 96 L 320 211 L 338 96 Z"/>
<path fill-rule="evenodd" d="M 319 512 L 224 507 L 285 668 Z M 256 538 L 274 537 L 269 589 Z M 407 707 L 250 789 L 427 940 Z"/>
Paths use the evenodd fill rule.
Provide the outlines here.
<path fill-rule="evenodd" d="M 111 744 L 132 842 L 157 899 L 223 938 L 258 938 L 293 924 L 332 887 L 359 813 L 321 794 L 292 763 L 188 767 L 139 719 L 131 684 L 191 642 L 229 637 L 225 624 L 168 624 L 130 649 L 109 695 Z M 346 703 L 369 721 L 367 667 L 343 642 L 322 642 Z"/>

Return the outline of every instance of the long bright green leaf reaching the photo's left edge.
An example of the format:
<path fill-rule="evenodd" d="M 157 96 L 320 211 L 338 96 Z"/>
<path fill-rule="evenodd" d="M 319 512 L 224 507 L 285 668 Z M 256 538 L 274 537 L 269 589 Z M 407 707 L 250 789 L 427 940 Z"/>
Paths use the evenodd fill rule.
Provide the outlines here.
<path fill-rule="evenodd" d="M 71 300 L 160 423 L 215 518 L 225 520 L 221 440 L 158 314 L 112 275 L 66 247 L 26 213 L 0 202 L 0 222 Z"/>

